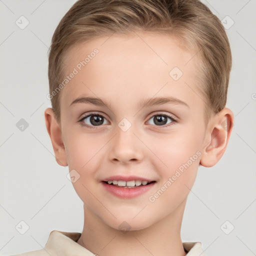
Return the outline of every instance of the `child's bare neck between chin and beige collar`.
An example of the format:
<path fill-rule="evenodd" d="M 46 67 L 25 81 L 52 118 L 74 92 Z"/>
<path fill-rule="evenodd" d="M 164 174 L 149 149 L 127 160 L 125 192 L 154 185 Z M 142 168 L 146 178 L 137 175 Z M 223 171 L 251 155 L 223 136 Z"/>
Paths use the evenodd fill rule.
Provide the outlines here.
<path fill-rule="evenodd" d="M 84 205 L 84 226 L 77 243 L 100 256 L 184 256 L 180 228 L 185 201 L 154 224 L 126 232 L 110 227 Z"/>

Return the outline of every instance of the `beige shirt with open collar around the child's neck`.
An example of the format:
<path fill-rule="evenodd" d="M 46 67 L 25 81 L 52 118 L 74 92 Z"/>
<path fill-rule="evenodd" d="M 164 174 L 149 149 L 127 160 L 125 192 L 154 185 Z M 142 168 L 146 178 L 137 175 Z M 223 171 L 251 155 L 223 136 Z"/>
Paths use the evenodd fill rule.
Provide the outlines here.
<path fill-rule="evenodd" d="M 76 241 L 81 233 L 52 230 L 43 249 L 12 256 L 95 256 Z M 186 256 L 205 256 L 200 242 L 182 242 Z"/>

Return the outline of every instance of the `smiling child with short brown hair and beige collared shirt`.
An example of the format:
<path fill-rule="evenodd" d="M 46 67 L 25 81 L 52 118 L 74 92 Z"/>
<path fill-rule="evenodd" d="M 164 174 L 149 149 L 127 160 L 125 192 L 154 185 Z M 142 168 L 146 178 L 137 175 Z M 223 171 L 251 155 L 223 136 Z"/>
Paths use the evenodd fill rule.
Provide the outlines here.
<path fill-rule="evenodd" d="M 228 143 L 230 69 L 199 0 L 78 0 L 52 37 L 45 122 L 84 226 L 19 255 L 205 255 L 180 228 L 198 166 Z"/>

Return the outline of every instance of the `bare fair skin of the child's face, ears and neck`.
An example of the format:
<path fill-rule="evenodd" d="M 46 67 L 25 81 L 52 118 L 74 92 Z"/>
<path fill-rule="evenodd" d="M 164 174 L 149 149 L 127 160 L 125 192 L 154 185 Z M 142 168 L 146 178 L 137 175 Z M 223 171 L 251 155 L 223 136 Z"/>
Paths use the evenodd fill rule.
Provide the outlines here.
<path fill-rule="evenodd" d="M 45 110 L 56 161 L 80 175 L 72 183 L 84 203 L 84 227 L 77 243 L 100 256 L 185 255 L 180 228 L 189 189 L 199 163 L 210 167 L 223 155 L 233 113 L 224 108 L 204 125 L 197 56 L 180 48 L 173 36 L 137 31 L 73 45 L 66 53 L 66 74 L 94 48 L 98 54 L 61 89 L 60 123 L 52 108 Z M 174 66 L 183 72 L 176 81 L 169 75 Z M 98 97 L 111 105 L 70 106 L 80 96 Z M 157 96 L 176 97 L 189 107 L 173 103 L 137 107 L 141 99 Z M 94 129 L 78 122 L 91 111 L 104 117 L 98 126 L 90 122 L 90 116 L 83 120 L 94 124 Z M 177 122 L 167 118 L 157 125 L 151 115 L 159 114 L 168 114 Z M 131 123 L 126 131 L 118 126 L 122 118 Z M 155 201 L 149 201 L 198 151 L 198 158 Z M 119 198 L 101 183 L 118 174 L 140 175 L 156 183 L 137 197 Z M 119 229 L 123 221 L 129 225 L 127 232 Z"/>

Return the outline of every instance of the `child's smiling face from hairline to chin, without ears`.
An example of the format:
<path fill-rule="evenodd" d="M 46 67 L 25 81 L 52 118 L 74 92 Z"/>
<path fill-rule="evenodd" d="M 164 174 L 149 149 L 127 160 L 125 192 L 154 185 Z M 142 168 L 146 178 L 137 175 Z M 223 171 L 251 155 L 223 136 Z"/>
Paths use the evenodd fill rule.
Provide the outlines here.
<path fill-rule="evenodd" d="M 195 53 L 180 49 L 169 35 L 137 34 L 101 37 L 72 47 L 66 55 L 66 75 L 73 68 L 78 73 L 60 96 L 65 157 L 69 171 L 75 169 L 80 175 L 73 186 L 87 213 L 114 228 L 125 220 L 131 230 L 182 214 L 206 145 Z M 90 54 L 95 48 L 98 53 Z M 78 65 L 79 70 L 77 64 L 88 54 L 89 61 L 84 67 Z M 180 76 L 177 68 L 171 72 L 177 80 L 169 75 L 174 67 L 183 73 Z M 80 97 L 100 98 L 109 105 L 71 104 Z M 185 103 L 140 106 L 155 97 Z M 89 116 L 79 122 L 85 114 L 98 114 L 101 119 Z M 156 182 L 144 193 L 122 198 L 110 193 L 102 181 L 112 175 Z"/>

